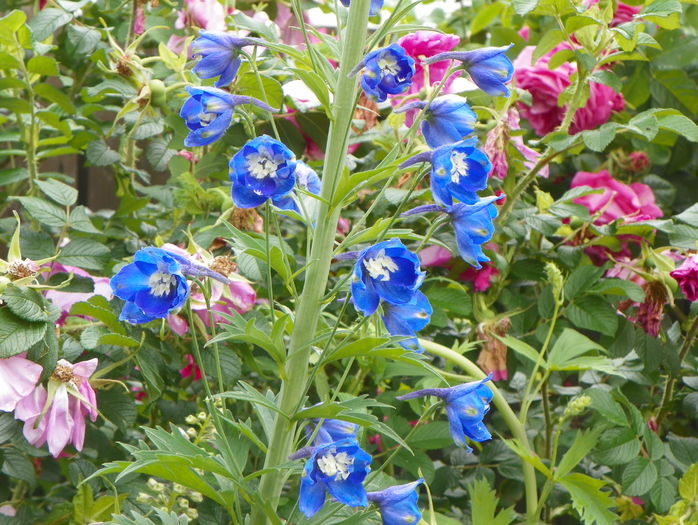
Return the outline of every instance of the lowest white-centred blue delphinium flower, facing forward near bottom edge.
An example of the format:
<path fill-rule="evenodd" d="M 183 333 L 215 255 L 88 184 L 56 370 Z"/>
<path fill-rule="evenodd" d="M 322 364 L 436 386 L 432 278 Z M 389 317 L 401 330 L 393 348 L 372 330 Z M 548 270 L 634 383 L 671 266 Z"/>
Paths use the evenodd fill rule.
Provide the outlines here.
<path fill-rule="evenodd" d="M 363 481 L 371 456 L 355 439 L 342 439 L 316 447 L 305 464 L 298 507 L 310 518 L 325 503 L 326 491 L 350 507 L 366 507 Z"/>

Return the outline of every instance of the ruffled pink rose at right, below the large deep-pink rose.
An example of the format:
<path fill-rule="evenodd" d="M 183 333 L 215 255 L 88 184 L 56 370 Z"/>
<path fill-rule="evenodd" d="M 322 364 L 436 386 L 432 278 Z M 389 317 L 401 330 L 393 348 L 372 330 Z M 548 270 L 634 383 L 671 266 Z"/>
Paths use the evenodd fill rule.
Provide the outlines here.
<path fill-rule="evenodd" d="M 608 224 L 617 219 L 625 222 L 639 222 L 662 216 L 654 200 L 652 189 L 646 184 L 633 182 L 624 184 L 606 170 L 597 173 L 578 172 L 570 184 L 572 188 L 590 186 L 603 189 L 603 193 L 585 195 L 574 200 L 589 210 L 590 214 L 603 210 L 595 224 Z"/>

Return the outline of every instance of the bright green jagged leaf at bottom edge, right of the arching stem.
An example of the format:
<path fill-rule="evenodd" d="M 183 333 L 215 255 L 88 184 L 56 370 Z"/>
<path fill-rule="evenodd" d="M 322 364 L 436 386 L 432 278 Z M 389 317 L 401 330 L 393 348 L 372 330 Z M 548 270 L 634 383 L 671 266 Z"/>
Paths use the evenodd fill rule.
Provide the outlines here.
<path fill-rule="evenodd" d="M 572 496 L 572 506 L 587 525 L 615 525 L 618 516 L 611 512 L 615 502 L 608 492 L 601 489 L 605 482 L 590 478 L 584 474 L 568 474 L 560 480 L 560 484 Z"/>

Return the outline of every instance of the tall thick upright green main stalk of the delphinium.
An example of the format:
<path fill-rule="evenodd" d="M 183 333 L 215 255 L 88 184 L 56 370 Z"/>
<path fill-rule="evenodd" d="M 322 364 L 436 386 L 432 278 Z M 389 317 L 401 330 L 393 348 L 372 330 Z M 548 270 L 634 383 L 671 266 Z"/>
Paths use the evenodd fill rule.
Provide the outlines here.
<path fill-rule="evenodd" d="M 308 362 L 311 341 L 315 336 L 322 297 L 327 288 L 327 279 L 332 260 L 337 222 L 341 209 L 330 208 L 335 188 L 344 169 L 349 131 L 354 114 L 357 78 L 349 73 L 363 57 L 364 44 L 367 39 L 369 0 L 354 0 L 349 8 L 349 20 L 343 37 L 342 59 L 337 75 L 334 93 L 334 114 L 328 135 L 328 149 L 322 172 L 322 201 L 320 203 L 317 227 L 308 261 L 308 271 L 298 300 L 298 309 L 289 344 L 285 371 L 286 380 L 279 392 L 279 409 L 281 413 L 292 416 L 302 403 L 304 389 L 308 379 Z M 274 432 L 269 443 L 264 461 L 265 469 L 274 469 L 286 461 L 293 447 L 296 431 L 295 421 L 286 421 L 279 414 L 275 416 Z M 262 475 L 259 494 L 262 501 L 269 502 L 276 509 L 285 475 L 275 469 Z M 252 511 L 251 525 L 262 525 L 266 518 L 260 508 Z"/>

